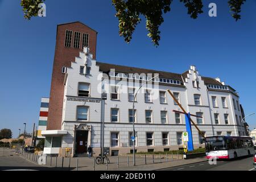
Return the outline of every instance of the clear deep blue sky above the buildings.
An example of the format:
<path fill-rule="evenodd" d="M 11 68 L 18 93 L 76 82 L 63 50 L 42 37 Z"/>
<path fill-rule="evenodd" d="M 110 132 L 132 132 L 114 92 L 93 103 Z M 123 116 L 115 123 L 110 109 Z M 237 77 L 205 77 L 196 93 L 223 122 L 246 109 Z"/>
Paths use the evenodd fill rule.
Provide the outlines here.
<path fill-rule="evenodd" d="M 256 1 L 242 6 L 238 22 L 229 13 L 228 0 L 203 2 L 204 14 L 194 20 L 174 1 L 156 48 L 147 38 L 144 19 L 131 43 L 124 42 L 110 0 L 47 0 L 47 17 L 30 21 L 23 18 L 20 1 L 0 0 L 0 129 L 10 128 L 17 137 L 24 122 L 30 133 L 38 124 L 40 98 L 49 97 L 56 25 L 74 21 L 98 31 L 98 61 L 175 73 L 196 65 L 201 75 L 220 77 L 236 89 L 246 114 L 255 112 Z M 217 4 L 217 17 L 208 16 L 210 2 Z M 256 127 L 255 115 L 246 121 Z"/>

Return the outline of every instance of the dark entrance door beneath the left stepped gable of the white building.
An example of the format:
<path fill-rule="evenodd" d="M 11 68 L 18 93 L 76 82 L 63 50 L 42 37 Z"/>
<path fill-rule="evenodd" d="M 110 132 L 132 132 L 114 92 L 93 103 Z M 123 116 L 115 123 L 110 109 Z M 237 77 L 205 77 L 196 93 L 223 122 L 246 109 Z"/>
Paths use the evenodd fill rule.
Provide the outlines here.
<path fill-rule="evenodd" d="M 76 131 L 76 153 L 83 154 L 87 152 L 88 131 Z"/>

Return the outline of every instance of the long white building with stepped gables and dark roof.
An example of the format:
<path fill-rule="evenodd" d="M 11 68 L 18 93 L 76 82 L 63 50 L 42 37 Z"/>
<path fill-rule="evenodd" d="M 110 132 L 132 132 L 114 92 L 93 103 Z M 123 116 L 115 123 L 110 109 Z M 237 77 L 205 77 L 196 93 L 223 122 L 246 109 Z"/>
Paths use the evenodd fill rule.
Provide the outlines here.
<path fill-rule="evenodd" d="M 185 116 L 168 94 L 170 89 L 206 137 L 245 135 L 236 90 L 220 79 L 200 76 L 195 66 L 182 74 L 98 63 L 88 48 L 80 52 L 65 74 L 62 131 L 42 131 L 48 140 L 45 152 L 75 156 L 93 148 L 101 152 L 102 143 L 110 155 L 130 153 L 133 134 L 133 99 L 139 86 L 158 75 L 139 90 L 135 99 L 135 150 L 169 151 L 182 148 Z M 136 74 L 135 74 L 136 73 Z M 135 74 L 135 75 L 133 75 Z M 106 93 L 102 107 L 101 94 Z M 103 109 L 104 108 L 104 109 Z M 104 111 L 104 113 L 102 113 Z M 102 117 L 104 116 L 104 135 Z M 193 144 L 204 147 L 192 125 Z M 103 139 L 104 138 L 104 139 Z"/>

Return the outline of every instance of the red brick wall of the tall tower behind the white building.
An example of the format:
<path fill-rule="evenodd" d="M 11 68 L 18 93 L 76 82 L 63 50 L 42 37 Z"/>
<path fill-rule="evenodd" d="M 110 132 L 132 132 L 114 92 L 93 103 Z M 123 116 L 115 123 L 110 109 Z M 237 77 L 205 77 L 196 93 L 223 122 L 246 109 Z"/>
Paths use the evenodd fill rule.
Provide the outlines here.
<path fill-rule="evenodd" d="M 71 47 L 65 47 L 65 31 L 72 30 Z M 81 32 L 80 48 L 73 48 L 75 31 Z M 51 92 L 49 98 L 49 111 L 47 130 L 60 130 L 64 98 L 64 74 L 61 73 L 62 67 L 71 67 L 71 62 L 79 56 L 82 51 L 82 33 L 89 34 L 90 53 L 96 59 L 97 32 L 80 22 L 60 24 L 57 26 L 55 56 L 53 61 Z"/>

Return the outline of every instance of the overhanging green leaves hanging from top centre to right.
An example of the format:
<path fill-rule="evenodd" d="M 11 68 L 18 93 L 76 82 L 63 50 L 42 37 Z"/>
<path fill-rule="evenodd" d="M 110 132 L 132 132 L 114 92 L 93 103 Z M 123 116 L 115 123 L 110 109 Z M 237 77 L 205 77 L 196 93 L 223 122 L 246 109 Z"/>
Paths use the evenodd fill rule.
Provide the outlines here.
<path fill-rule="evenodd" d="M 246 0 L 229 0 L 230 10 L 233 11 L 233 18 L 241 19 L 241 6 Z M 164 22 L 163 13 L 171 11 L 172 0 L 112 0 L 119 20 L 119 35 L 130 43 L 133 32 L 143 15 L 146 18 L 147 36 L 151 38 L 154 46 L 159 46 L 159 27 Z M 203 2 L 201 0 L 180 0 L 188 9 L 191 18 L 196 19 L 203 13 Z"/>

